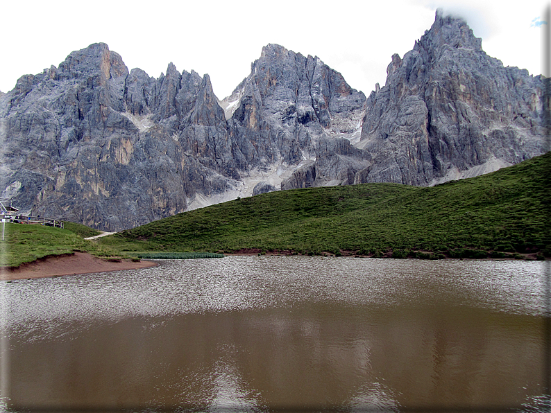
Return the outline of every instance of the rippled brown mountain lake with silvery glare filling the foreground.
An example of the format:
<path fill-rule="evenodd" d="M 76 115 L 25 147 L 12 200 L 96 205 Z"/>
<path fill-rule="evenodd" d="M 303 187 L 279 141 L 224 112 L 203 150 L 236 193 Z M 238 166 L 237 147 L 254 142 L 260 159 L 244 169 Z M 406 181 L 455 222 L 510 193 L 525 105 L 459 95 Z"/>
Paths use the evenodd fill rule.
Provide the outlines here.
<path fill-rule="evenodd" d="M 544 411 L 543 263 L 161 262 L 2 283 L 8 405 Z"/>

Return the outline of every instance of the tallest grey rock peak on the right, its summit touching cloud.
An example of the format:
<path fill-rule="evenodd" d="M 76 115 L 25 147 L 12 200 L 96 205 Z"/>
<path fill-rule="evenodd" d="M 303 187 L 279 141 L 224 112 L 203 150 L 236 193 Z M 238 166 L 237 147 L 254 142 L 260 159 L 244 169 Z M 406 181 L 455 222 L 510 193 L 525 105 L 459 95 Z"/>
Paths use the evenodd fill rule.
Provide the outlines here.
<path fill-rule="evenodd" d="M 368 98 L 357 144 L 373 164 L 355 183 L 424 186 L 543 152 L 541 77 L 486 55 L 461 19 L 437 12 L 412 51 L 393 55 L 387 73 Z"/>

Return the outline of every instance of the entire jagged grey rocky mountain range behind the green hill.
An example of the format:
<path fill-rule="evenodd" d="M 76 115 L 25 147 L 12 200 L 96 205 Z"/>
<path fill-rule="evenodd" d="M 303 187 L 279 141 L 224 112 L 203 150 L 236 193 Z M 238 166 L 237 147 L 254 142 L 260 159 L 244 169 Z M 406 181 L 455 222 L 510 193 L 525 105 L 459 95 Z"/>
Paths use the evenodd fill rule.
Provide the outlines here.
<path fill-rule="evenodd" d="M 155 79 L 92 44 L 0 94 L 1 196 L 120 231 L 280 189 L 431 186 L 545 152 L 544 80 L 439 11 L 367 98 L 277 44 L 223 100 L 206 74 Z"/>

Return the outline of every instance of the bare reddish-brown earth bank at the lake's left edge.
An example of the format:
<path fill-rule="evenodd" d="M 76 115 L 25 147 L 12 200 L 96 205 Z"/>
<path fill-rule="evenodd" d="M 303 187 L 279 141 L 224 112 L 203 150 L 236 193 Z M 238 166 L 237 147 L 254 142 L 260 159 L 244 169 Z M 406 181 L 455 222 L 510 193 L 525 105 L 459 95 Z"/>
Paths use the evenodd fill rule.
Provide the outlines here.
<path fill-rule="evenodd" d="M 0 281 L 45 278 L 49 276 L 92 274 L 121 270 L 137 270 L 155 267 L 153 261 L 135 262 L 130 259 L 109 261 L 86 252 L 75 252 L 58 256 L 40 258 L 32 263 L 24 263 L 17 268 L 0 268 Z"/>

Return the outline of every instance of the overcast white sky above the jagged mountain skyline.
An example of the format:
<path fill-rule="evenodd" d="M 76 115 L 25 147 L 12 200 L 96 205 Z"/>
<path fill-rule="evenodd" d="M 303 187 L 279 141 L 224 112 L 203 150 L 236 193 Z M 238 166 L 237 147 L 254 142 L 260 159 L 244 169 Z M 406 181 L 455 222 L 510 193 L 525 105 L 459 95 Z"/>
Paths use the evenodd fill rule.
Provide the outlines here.
<path fill-rule="evenodd" d="M 372 3 L 376 3 L 373 5 Z M 542 73 L 547 1 L 2 1 L 0 90 L 56 67 L 71 51 L 104 42 L 128 69 L 157 78 L 209 73 L 221 99 L 251 70 L 262 46 L 317 55 L 368 95 L 384 85 L 393 53 L 403 57 L 434 22 L 436 8 L 466 19 L 482 48 L 505 66 Z M 540 22 L 540 25 L 538 24 Z"/>

